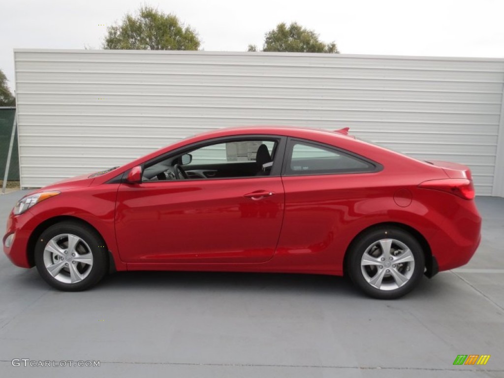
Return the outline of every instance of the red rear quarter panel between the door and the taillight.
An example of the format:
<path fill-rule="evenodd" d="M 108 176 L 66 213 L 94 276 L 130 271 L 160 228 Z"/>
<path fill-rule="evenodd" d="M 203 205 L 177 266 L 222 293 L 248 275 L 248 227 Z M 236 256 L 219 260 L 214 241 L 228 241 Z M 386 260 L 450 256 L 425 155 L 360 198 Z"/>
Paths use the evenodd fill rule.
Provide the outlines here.
<path fill-rule="evenodd" d="M 368 227 L 396 222 L 433 240 L 446 217 L 418 193 L 423 177 L 387 172 L 284 177 L 285 215 L 275 264 L 287 271 L 341 274 L 352 240 Z M 394 194 L 407 190 L 409 206 Z"/>

